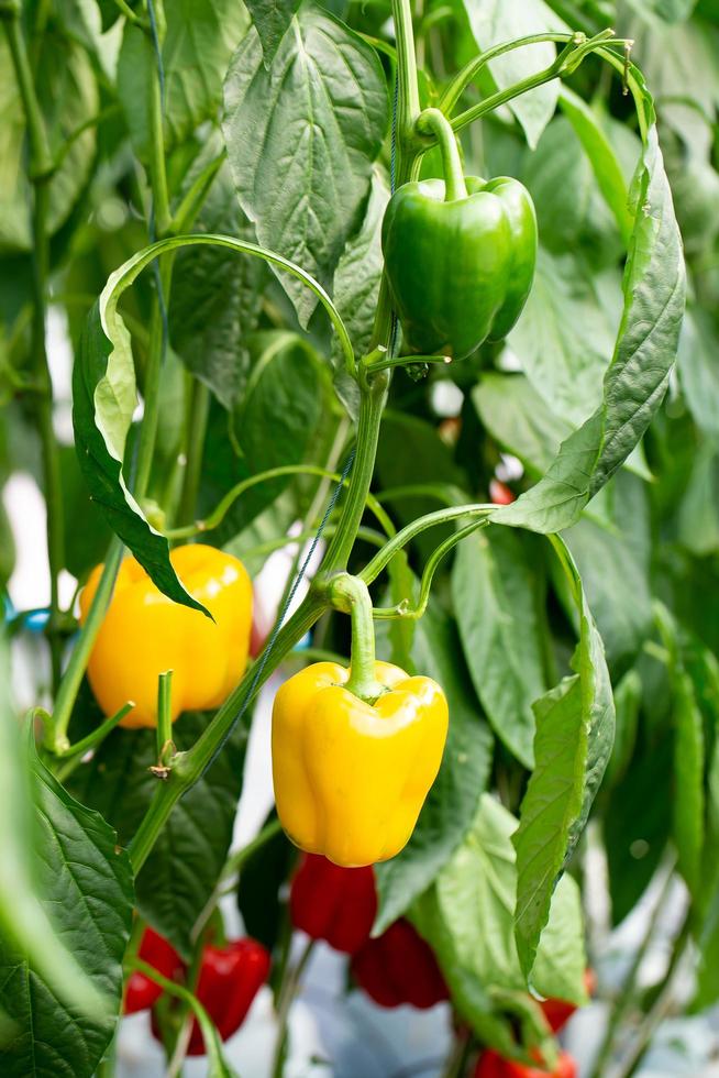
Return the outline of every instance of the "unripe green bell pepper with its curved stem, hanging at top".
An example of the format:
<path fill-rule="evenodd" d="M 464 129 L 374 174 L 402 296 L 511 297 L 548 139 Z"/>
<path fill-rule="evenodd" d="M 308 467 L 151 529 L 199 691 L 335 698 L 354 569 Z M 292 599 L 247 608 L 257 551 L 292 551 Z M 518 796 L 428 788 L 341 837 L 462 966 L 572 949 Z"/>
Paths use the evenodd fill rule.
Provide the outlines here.
<path fill-rule="evenodd" d="M 405 184 L 392 195 L 385 271 L 407 349 L 461 360 L 501 340 L 519 318 L 534 276 L 537 217 L 518 180 L 465 178 L 446 119 L 435 109 L 423 119 L 440 139 L 445 180 Z"/>

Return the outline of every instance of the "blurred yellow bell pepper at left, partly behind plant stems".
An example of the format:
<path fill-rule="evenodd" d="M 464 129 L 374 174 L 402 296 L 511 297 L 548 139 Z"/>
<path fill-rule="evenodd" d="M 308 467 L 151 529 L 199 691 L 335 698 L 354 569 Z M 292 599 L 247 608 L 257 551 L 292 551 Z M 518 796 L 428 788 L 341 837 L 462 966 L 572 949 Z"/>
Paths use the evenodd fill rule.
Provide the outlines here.
<path fill-rule="evenodd" d="M 214 624 L 163 595 L 134 558 L 122 562 L 88 666 L 90 685 L 106 715 L 134 701 L 121 726 L 157 725 L 157 678 L 165 670 L 173 671 L 174 721 L 182 711 L 219 707 L 247 666 L 252 583 L 242 562 L 200 543 L 177 547 L 169 560 Z M 101 572 L 98 565 L 80 594 L 80 622 Z"/>

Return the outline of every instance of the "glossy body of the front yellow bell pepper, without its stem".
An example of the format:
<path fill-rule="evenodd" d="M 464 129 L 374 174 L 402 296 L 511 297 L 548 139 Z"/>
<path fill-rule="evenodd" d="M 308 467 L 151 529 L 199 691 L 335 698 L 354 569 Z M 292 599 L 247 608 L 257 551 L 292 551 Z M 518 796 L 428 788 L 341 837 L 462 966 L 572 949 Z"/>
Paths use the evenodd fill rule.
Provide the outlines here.
<path fill-rule="evenodd" d="M 407 844 L 446 740 L 444 693 L 430 678 L 375 662 L 388 690 L 367 704 L 350 671 L 317 662 L 279 689 L 273 710 L 277 813 L 291 840 L 346 868 Z"/>

